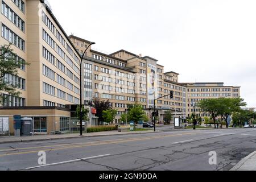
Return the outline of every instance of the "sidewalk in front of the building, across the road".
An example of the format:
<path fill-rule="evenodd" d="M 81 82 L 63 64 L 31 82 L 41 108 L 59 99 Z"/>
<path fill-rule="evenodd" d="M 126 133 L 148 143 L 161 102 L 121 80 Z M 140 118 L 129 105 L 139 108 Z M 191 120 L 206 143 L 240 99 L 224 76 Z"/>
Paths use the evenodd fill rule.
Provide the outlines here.
<path fill-rule="evenodd" d="M 156 131 L 162 132 L 162 131 Z M 35 135 L 31 137 L 0 137 L 1 143 L 14 143 L 14 142 L 31 142 L 31 141 L 43 141 L 43 140 L 55 140 L 55 139 L 71 139 L 71 138 L 82 138 L 82 137 L 104 137 L 111 135 L 132 135 L 132 134 L 148 134 L 154 133 L 154 131 L 129 131 L 129 132 L 118 132 L 118 131 L 102 131 L 97 133 L 84 133 L 79 136 L 76 134 L 62 134 L 62 135 Z"/>

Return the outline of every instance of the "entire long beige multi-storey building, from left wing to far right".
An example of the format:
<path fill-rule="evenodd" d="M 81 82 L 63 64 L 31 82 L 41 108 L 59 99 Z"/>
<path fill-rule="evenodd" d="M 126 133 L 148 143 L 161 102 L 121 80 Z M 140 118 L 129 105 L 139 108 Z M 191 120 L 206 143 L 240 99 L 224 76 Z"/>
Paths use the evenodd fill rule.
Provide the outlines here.
<path fill-rule="evenodd" d="M 37 133 L 68 131 L 72 107 L 80 103 L 81 55 L 90 42 L 68 36 L 43 0 L 1 0 L 0 22 L 0 46 L 12 43 L 16 59 L 30 64 L 20 67 L 18 76 L 3 78 L 18 85 L 21 94 L 13 97 L 1 92 L 5 101 L 0 118 L 9 118 L 11 132 L 13 115 L 34 119 Z M 84 104 L 95 98 L 109 100 L 118 110 L 115 123 L 135 102 L 151 118 L 154 97 L 171 90 L 172 100 L 165 97 L 156 102 L 159 122 L 167 111 L 175 117 L 188 117 L 194 111 L 191 104 L 205 98 L 240 97 L 240 87 L 224 86 L 223 82 L 181 83 L 179 73 L 165 72 L 157 59 L 123 49 L 109 55 L 89 47 L 82 60 L 82 79 Z M 195 113 L 209 116 L 196 107 Z"/>

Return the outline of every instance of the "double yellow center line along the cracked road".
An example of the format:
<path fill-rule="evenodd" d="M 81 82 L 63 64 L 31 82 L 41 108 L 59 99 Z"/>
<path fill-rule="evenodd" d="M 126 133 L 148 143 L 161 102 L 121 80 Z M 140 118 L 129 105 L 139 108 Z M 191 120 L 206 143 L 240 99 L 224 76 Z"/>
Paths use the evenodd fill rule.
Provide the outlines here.
<path fill-rule="evenodd" d="M 147 138 L 136 138 L 136 139 L 128 139 L 128 140 L 109 140 L 109 141 L 102 141 L 102 142 L 94 142 L 91 144 L 85 144 L 81 146 L 70 146 L 70 147 L 60 147 L 60 148 L 50 148 L 44 151 L 55 151 L 55 150 L 65 150 L 70 148 L 81 148 L 81 147 L 88 147 L 88 146 L 100 146 L 105 144 L 115 144 L 115 143 L 122 143 L 122 142 L 134 142 L 134 141 L 140 141 L 140 140 L 149 140 L 149 139 L 158 139 L 158 138 L 166 138 L 166 137 L 177 137 L 181 135 L 193 135 L 193 134 L 202 134 L 202 133 L 185 133 L 185 134 L 176 134 L 176 135 L 162 135 L 157 137 L 147 137 Z M 1 156 L 7 156 L 7 155 L 19 155 L 19 154 L 31 154 L 31 153 L 37 153 L 42 150 L 36 150 L 36 151 L 27 151 L 27 152 L 17 152 L 17 153 L 11 153 L 11 154 L 2 154 Z"/>

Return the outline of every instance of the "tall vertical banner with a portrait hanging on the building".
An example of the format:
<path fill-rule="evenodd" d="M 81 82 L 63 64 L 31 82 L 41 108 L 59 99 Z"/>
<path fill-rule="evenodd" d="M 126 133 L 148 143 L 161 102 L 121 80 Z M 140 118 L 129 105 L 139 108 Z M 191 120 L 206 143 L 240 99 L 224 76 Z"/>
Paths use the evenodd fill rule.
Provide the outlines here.
<path fill-rule="evenodd" d="M 158 97 L 158 82 L 156 74 L 156 66 L 152 64 L 147 65 L 147 104 L 148 107 L 154 107 L 154 92 L 155 98 Z"/>

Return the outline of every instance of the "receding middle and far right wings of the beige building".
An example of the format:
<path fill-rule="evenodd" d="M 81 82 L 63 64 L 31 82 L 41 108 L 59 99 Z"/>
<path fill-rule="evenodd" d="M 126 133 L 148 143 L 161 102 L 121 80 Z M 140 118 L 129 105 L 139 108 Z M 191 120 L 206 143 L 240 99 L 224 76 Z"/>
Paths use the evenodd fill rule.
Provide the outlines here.
<path fill-rule="evenodd" d="M 88 40 L 69 36 L 81 53 L 89 45 Z M 136 55 L 121 49 L 107 55 L 89 48 L 84 57 L 84 98 L 85 104 L 98 98 L 109 100 L 113 109 L 118 110 L 115 122 L 125 113 L 129 104 L 141 104 L 149 118 L 154 108 L 154 98 L 174 92 L 174 98 L 164 97 L 156 101 L 159 122 L 171 111 L 174 117 L 186 118 L 194 111 L 192 103 L 205 98 L 240 97 L 240 87 L 224 86 L 224 83 L 180 83 L 179 73 L 164 72 L 158 60 Z M 195 107 L 195 114 L 209 117 Z"/>

